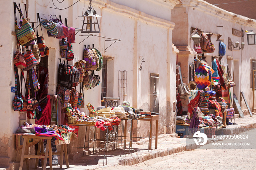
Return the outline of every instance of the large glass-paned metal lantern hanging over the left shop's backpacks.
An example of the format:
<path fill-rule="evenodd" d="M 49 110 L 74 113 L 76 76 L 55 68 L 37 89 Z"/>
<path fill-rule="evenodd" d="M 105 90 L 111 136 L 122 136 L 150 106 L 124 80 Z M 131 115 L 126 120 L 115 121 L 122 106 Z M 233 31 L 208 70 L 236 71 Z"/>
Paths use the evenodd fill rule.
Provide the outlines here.
<path fill-rule="evenodd" d="M 89 3 L 87 11 L 84 12 L 84 15 L 80 16 L 83 17 L 83 26 L 82 26 L 82 33 L 100 33 L 99 31 L 99 16 L 93 8 L 93 5 Z"/>

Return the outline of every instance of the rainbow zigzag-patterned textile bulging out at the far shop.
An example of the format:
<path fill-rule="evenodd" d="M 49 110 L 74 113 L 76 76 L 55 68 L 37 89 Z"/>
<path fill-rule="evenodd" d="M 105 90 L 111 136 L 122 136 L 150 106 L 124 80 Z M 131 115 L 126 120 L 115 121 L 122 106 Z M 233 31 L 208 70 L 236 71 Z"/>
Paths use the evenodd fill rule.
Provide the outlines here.
<path fill-rule="evenodd" d="M 195 82 L 199 90 L 210 86 L 213 82 L 212 73 L 214 70 L 207 65 L 200 65 L 196 70 Z"/>

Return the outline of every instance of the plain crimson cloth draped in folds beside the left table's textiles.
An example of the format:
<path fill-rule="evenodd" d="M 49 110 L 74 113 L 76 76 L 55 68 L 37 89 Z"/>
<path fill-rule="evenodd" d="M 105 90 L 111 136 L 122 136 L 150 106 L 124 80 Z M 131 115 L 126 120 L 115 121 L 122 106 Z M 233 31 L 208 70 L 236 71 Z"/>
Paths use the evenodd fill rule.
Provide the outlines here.
<path fill-rule="evenodd" d="M 43 114 L 41 118 L 35 121 L 35 124 L 39 125 L 48 125 L 51 121 L 51 103 L 50 103 L 50 95 L 47 96 L 47 103 L 43 110 Z"/>

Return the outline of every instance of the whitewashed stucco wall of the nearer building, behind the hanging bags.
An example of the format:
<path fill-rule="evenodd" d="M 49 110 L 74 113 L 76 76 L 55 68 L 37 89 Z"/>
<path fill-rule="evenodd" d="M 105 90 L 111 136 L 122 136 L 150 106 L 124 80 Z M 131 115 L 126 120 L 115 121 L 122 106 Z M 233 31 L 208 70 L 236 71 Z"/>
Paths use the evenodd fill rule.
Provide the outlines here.
<path fill-rule="evenodd" d="M 2 70 L 1 74 L 1 94 L 5 96 L 1 100 L 1 129 L 4 129 L 0 134 L 0 166 L 14 167 L 11 162 L 19 162 L 19 157 L 16 159 L 18 152 L 14 146 L 14 135 L 12 135 L 19 127 L 19 120 L 26 119 L 25 113 L 14 112 L 12 108 L 12 100 L 14 93 L 11 93 L 11 86 L 14 86 L 14 63 L 13 56 L 16 51 L 16 39 L 11 35 L 14 29 L 14 15 L 13 2 L 6 1 L 1 7 L 0 12 L 3 14 L 1 23 L 5 29 L 0 33 L 0 55 L 2 56 Z M 68 26 L 75 28 L 82 28 L 82 18 L 78 16 L 83 15 L 88 7 L 88 1 L 79 1 L 68 9 L 53 9 L 52 1 L 19 1 L 24 11 L 24 2 L 27 4 L 29 22 L 37 21 L 37 13 L 41 18 L 48 18 L 48 15 L 61 15 L 64 23 L 65 18 L 68 18 Z M 55 3 L 58 8 L 66 8 L 75 3 L 76 0 L 63 1 L 63 3 Z M 121 39 L 120 42 L 114 43 L 106 52 L 104 51 L 104 39 L 97 36 L 91 36 L 79 44 L 85 36 L 80 32 L 76 35 L 73 43 L 73 51 L 75 59 L 69 64 L 74 64 L 75 61 L 83 59 L 84 45 L 94 44 L 94 46 L 104 55 L 114 57 L 113 60 L 108 61 L 107 80 L 108 80 L 108 97 L 118 96 L 118 70 L 127 70 L 127 101 L 135 108 L 142 108 L 144 111 L 149 110 L 149 94 L 150 94 L 150 73 L 159 73 L 159 130 L 158 134 L 173 133 L 174 115 L 173 101 L 175 101 L 175 64 L 176 53 L 178 50 L 172 45 L 172 30 L 174 23 L 170 22 L 170 10 L 178 1 L 106 1 L 94 0 L 93 7 L 97 11 L 100 18 L 101 33 L 100 36 L 109 38 Z M 46 7 L 48 6 L 48 7 Z M 83 8 L 84 7 L 84 8 Z M 163 10 L 164 9 L 164 10 Z M 23 12 L 25 13 L 25 11 Z M 42 14 L 45 14 L 42 15 Z M 10 14 L 10 15 L 7 15 Z M 17 14 L 17 16 L 19 16 Z M 37 24 L 35 24 L 37 26 Z M 40 27 L 38 34 L 42 35 Z M 37 29 L 36 28 L 36 31 Z M 57 70 L 59 66 L 59 39 L 48 37 L 44 28 L 43 35 L 46 46 L 50 48 L 48 58 L 48 93 L 53 95 L 56 92 L 57 85 Z M 106 42 L 106 47 L 110 43 Z M 139 71 L 141 61 L 139 56 L 144 57 L 145 62 L 143 68 Z M 9 57 L 7 57 L 9 56 Z M 63 61 L 63 59 L 61 59 Z M 95 72 L 102 76 L 102 71 Z M 79 89 L 79 86 L 77 87 Z M 24 90 L 23 90 L 24 91 Z M 94 107 L 101 105 L 101 84 L 93 89 L 84 91 L 85 104 L 90 102 Z M 82 111 L 88 114 L 87 109 Z M 134 124 L 137 124 L 134 123 Z M 147 123 L 139 123 L 135 126 L 135 135 L 147 136 Z M 153 130 L 154 131 L 154 130 Z M 153 134 L 154 135 L 154 134 Z M 81 142 L 82 140 L 79 139 Z"/>

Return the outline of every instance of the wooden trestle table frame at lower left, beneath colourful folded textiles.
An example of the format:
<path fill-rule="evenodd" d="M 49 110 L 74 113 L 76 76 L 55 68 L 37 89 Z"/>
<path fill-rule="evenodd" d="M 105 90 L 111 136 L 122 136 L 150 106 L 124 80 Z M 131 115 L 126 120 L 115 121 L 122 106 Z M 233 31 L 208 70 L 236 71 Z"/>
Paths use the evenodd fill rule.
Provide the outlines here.
<path fill-rule="evenodd" d="M 35 136 L 34 134 L 33 135 L 32 134 L 31 135 L 26 134 L 26 135 L 22 135 L 22 138 L 24 140 L 23 140 L 19 170 L 22 170 L 24 158 L 37 158 L 36 161 L 35 161 L 35 169 L 37 169 L 38 161 L 39 161 L 39 158 L 41 158 L 41 157 L 42 157 L 42 159 L 44 159 L 44 162 L 42 162 L 43 170 L 46 169 L 47 158 L 49 158 L 50 170 L 52 170 L 52 154 L 60 155 L 60 159 L 61 159 L 60 160 L 60 169 L 61 169 L 62 165 L 63 165 L 63 151 L 65 152 L 65 159 L 66 159 L 67 168 L 69 168 L 68 152 L 67 152 L 66 144 L 61 144 L 61 151 L 60 152 L 52 152 L 52 144 L 51 144 L 51 140 L 53 138 L 52 136 Z M 40 139 L 39 145 L 38 145 L 38 150 L 37 150 L 37 155 L 25 155 L 26 145 L 27 145 L 27 141 L 28 141 L 27 139 Z M 43 145 L 44 141 L 43 140 L 44 139 L 47 140 L 45 152 L 43 152 L 43 149 L 44 149 L 44 145 Z M 42 152 L 40 152 L 40 148 L 42 149 Z M 28 165 L 28 163 L 27 163 L 27 165 Z M 29 167 L 27 167 L 27 169 L 29 169 Z"/>

